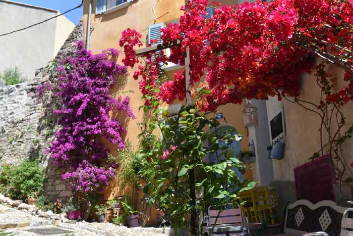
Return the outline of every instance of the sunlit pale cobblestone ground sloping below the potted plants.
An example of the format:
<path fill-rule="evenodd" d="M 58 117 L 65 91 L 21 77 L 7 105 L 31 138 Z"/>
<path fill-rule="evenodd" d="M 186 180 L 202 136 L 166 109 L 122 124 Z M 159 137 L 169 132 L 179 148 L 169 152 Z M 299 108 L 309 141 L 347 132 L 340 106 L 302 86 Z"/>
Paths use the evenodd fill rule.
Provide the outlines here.
<path fill-rule="evenodd" d="M 74 236 L 74 235 L 104 235 L 104 236 L 165 236 L 163 228 L 128 228 L 111 223 L 62 223 L 60 220 L 39 218 L 0 204 L 0 230 L 15 232 L 18 236 Z"/>

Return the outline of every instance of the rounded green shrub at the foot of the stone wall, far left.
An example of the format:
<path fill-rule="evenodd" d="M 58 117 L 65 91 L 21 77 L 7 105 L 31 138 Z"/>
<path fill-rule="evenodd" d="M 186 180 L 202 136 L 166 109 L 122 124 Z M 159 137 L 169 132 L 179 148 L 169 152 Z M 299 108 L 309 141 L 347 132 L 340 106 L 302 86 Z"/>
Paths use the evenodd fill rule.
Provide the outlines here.
<path fill-rule="evenodd" d="M 19 165 L 2 167 L 0 183 L 3 193 L 11 198 L 26 200 L 43 192 L 44 170 L 38 161 L 23 161 Z"/>

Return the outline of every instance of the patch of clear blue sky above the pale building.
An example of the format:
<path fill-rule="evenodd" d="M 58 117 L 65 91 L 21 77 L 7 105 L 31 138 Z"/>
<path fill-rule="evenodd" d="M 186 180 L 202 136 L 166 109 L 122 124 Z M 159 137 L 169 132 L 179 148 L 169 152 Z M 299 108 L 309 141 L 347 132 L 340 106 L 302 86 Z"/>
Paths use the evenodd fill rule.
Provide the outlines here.
<path fill-rule="evenodd" d="M 81 4 L 81 0 L 12 0 L 14 2 L 25 3 L 30 5 L 41 6 L 58 10 L 61 13 L 66 12 Z M 75 9 L 72 12 L 65 14 L 74 24 L 77 24 L 82 16 L 82 8 Z"/>

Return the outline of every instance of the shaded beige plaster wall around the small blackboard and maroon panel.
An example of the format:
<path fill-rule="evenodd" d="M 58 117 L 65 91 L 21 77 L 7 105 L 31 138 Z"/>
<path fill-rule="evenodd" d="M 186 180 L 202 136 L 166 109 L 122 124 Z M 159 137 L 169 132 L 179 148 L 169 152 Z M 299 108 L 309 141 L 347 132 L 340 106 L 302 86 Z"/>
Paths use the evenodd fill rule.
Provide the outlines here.
<path fill-rule="evenodd" d="M 317 60 L 317 63 L 319 60 Z M 344 85 L 342 70 L 334 65 L 328 65 L 329 72 L 338 79 L 334 90 L 338 90 Z M 318 103 L 320 101 L 320 88 L 316 84 L 316 77 L 313 74 L 304 74 L 301 86 L 301 98 L 306 101 Z M 271 120 L 283 107 L 286 126 L 286 135 L 283 138 L 285 143 L 284 158 L 282 160 L 273 160 L 274 168 L 274 186 L 279 195 L 280 202 L 296 200 L 295 178 L 293 169 L 299 165 L 309 162 L 312 155 L 320 149 L 320 117 L 311 111 L 307 111 L 298 104 L 292 104 L 283 99 L 278 102 L 277 98 L 271 98 L 267 101 L 268 119 Z M 343 128 L 346 130 L 348 124 L 353 123 L 352 104 L 348 103 L 342 111 L 346 116 L 346 124 Z M 311 107 L 311 109 L 315 109 Z M 324 135 L 324 140 L 327 136 Z M 348 139 L 344 145 L 344 155 L 347 163 L 353 161 L 353 140 Z M 350 168 L 351 170 L 351 168 Z M 347 172 L 351 175 L 351 172 Z M 349 194 L 350 195 L 350 194 Z M 348 195 L 348 197 L 349 197 Z M 352 196 L 350 196 L 351 198 Z M 337 192 L 336 201 L 341 200 L 341 194 Z"/>

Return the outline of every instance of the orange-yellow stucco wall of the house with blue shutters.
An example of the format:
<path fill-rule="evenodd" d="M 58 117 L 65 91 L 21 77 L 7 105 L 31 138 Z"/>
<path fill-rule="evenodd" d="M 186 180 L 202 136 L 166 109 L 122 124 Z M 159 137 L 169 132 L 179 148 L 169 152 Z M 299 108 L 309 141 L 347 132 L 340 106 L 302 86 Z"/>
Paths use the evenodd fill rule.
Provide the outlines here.
<path fill-rule="evenodd" d="M 84 15 L 82 17 L 85 31 L 87 28 L 88 19 L 88 2 L 84 1 Z M 236 2 L 227 0 L 224 2 Z M 147 37 L 149 25 L 168 22 L 178 19 L 182 11 L 180 7 L 185 4 L 185 0 L 137 0 L 133 2 L 129 7 L 117 10 L 110 14 L 95 15 L 95 1 L 93 1 L 93 13 L 91 15 L 91 34 L 90 34 L 90 50 L 93 53 L 100 53 L 102 50 L 107 48 L 115 48 L 118 50 L 122 49 L 119 46 L 119 39 L 121 37 L 121 32 L 126 28 L 136 29 L 141 32 L 143 39 Z M 155 19 L 157 18 L 157 19 Z M 87 32 L 85 32 L 85 35 Z M 122 56 L 119 57 L 118 63 L 121 63 Z M 125 135 L 125 141 L 130 141 L 134 146 L 139 144 L 137 134 L 139 129 L 137 122 L 141 121 L 143 118 L 143 112 L 139 112 L 139 106 L 142 105 L 141 93 L 138 89 L 138 81 L 132 78 L 133 71 L 136 68 L 129 68 L 129 76 L 121 80 L 120 83 L 116 84 L 111 92 L 119 92 L 122 90 L 133 90 L 134 93 L 130 94 L 131 106 L 135 115 L 136 120 L 124 120 L 124 125 L 127 129 Z M 168 72 L 172 76 L 172 72 Z M 219 112 L 222 112 L 227 120 L 227 123 L 237 129 L 239 133 L 245 134 L 242 141 L 242 149 L 248 149 L 248 137 L 247 130 L 245 129 L 242 122 L 242 109 L 243 105 L 224 105 L 219 108 Z M 224 122 L 223 122 L 224 123 Z M 116 147 L 111 144 L 107 144 L 111 153 L 116 154 Z M 245 176 L 246 178 L 252 179 L 252 172 L 249 169 Z M 119 180 L 114 180 L 112 184 L 107 188 L 105 192 L 105 199 L 110 199 L 112 196 L 121 195 L 121 190 L 119 188 Z M 140 196 L 142 196 L 140 194 Z M 151 222 L 154 221 L 155 213 L 152 214 Z"/>

